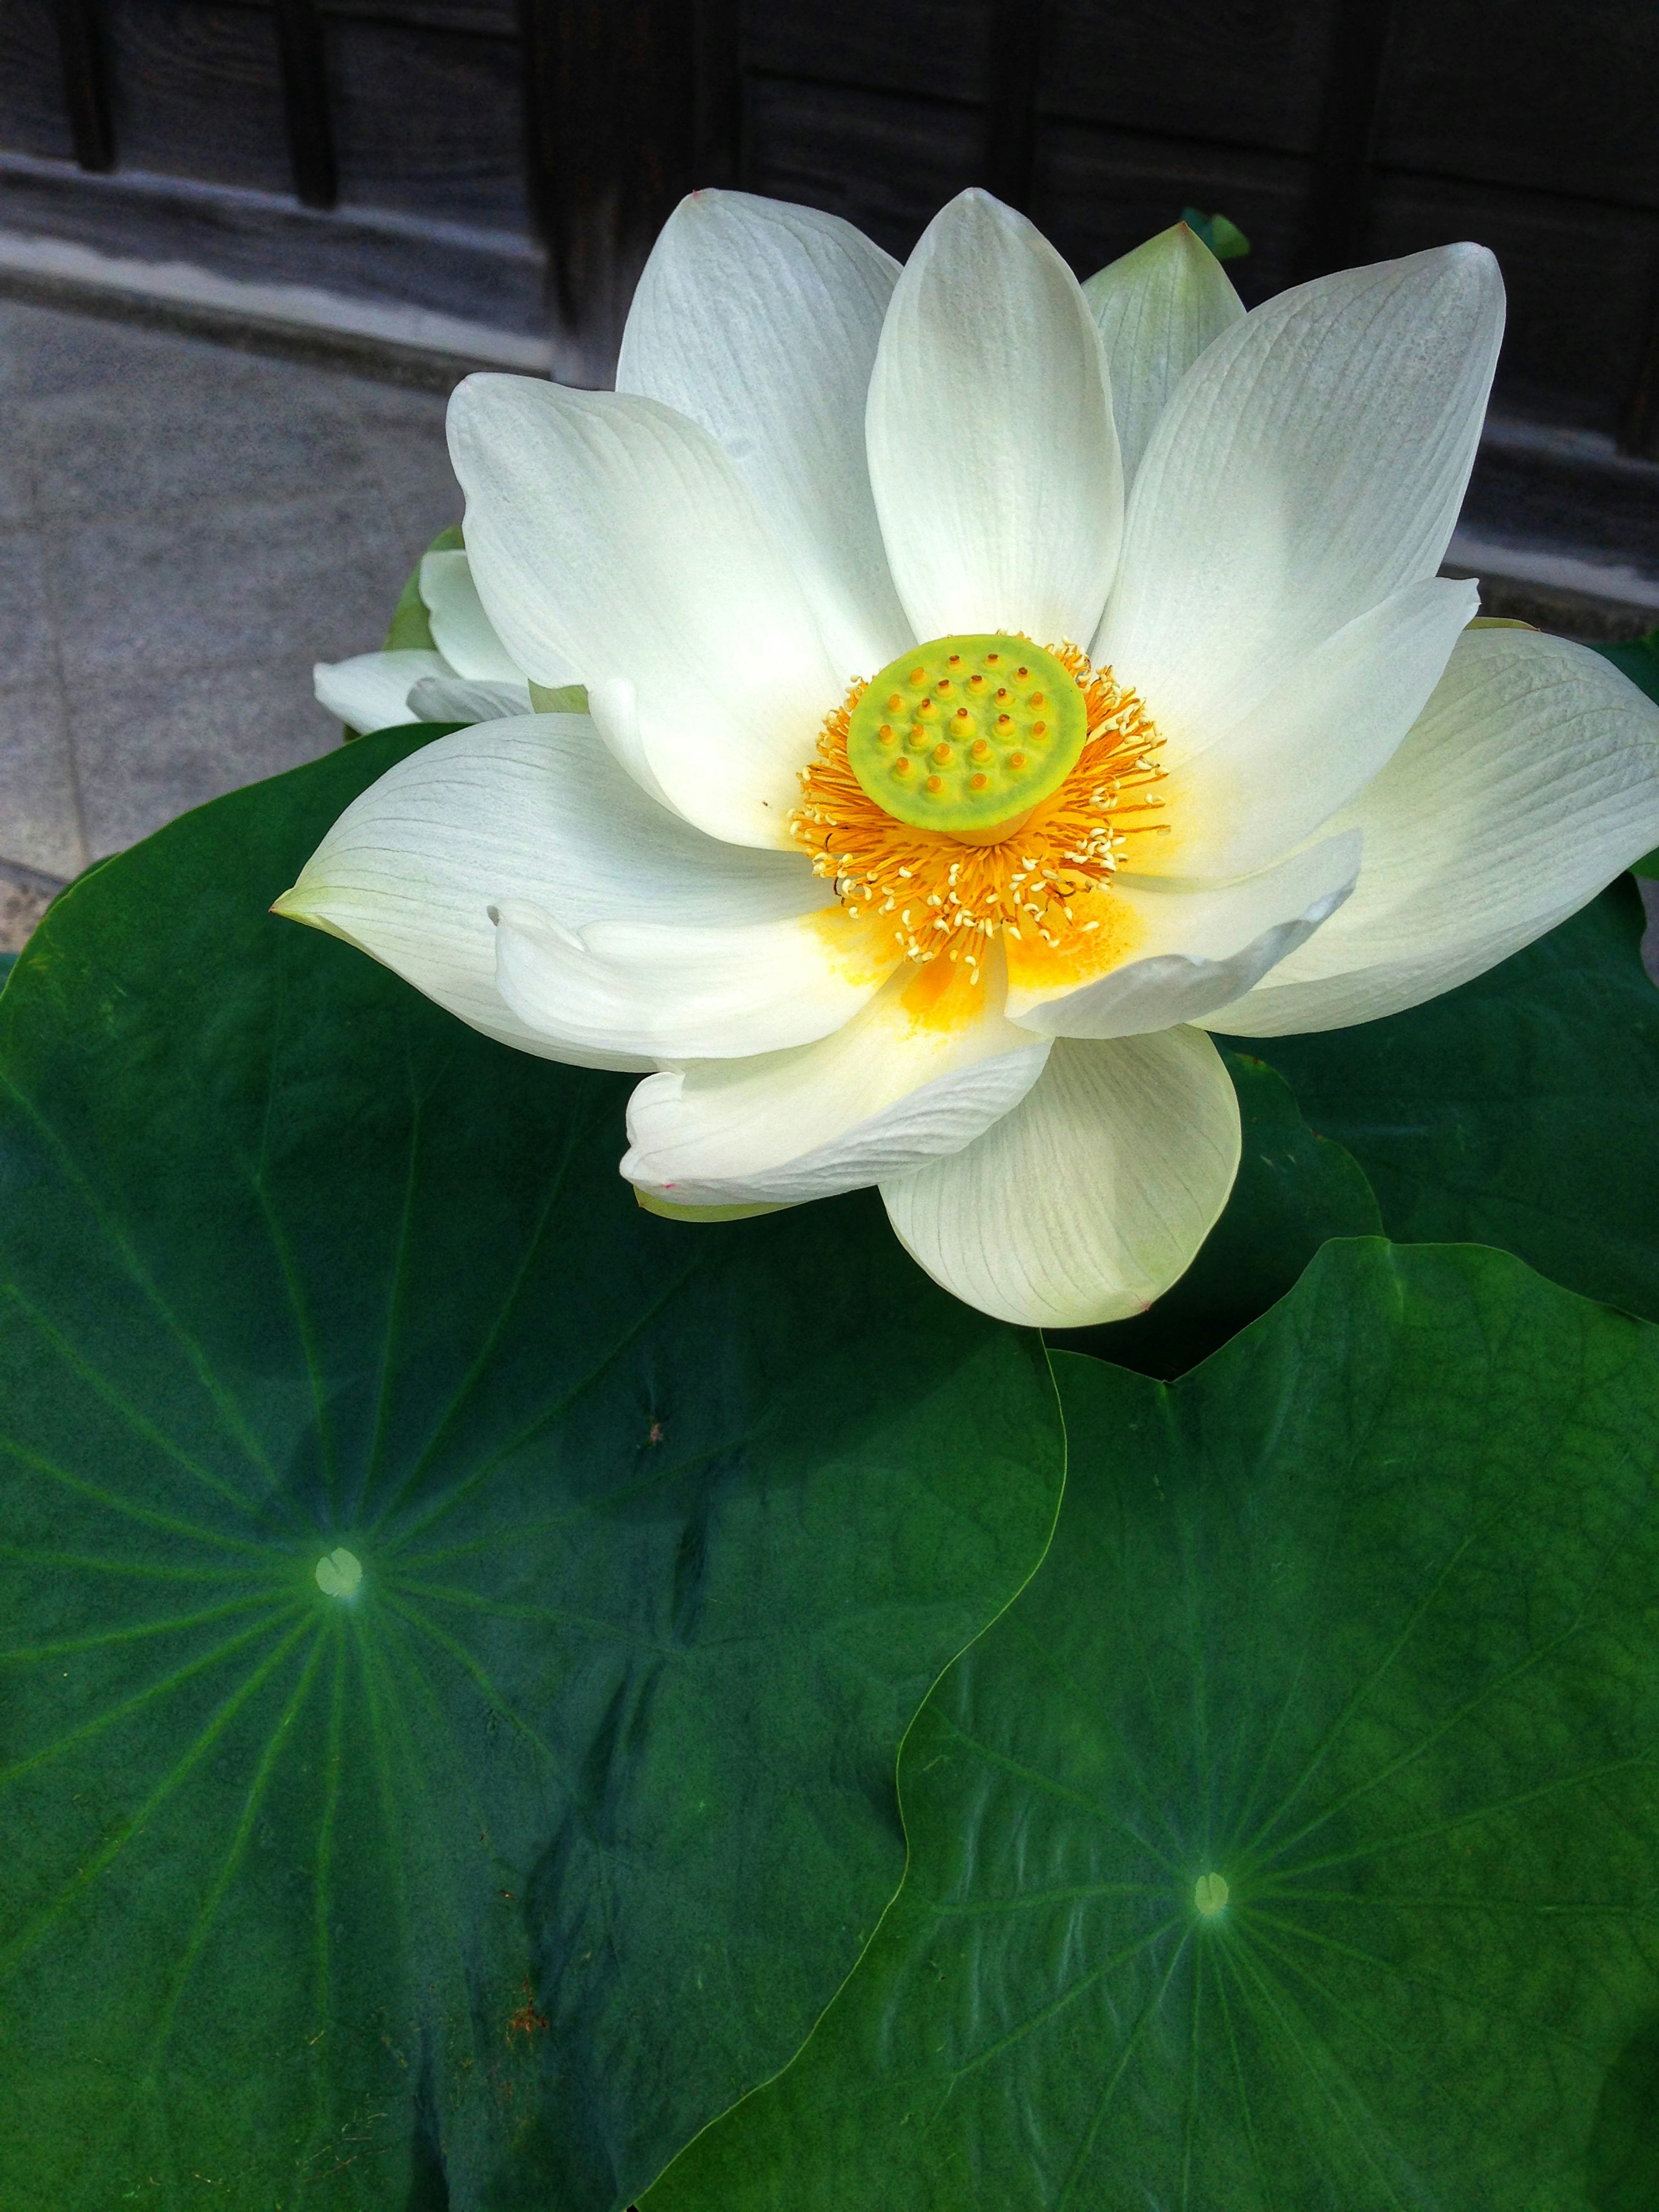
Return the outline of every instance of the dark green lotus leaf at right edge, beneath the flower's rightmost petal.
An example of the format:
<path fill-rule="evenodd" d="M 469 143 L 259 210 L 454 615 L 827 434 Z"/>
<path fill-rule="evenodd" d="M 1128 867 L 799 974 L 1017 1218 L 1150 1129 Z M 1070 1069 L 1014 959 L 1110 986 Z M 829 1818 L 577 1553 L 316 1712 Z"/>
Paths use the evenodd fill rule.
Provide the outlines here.
<path fill-rule="evenodd" d="M 1659 991 L 1644 927 L 1621 876 L 1427 1006 L 1245 1048 L 1358 1159 L 1389 1237 L 1502 1245 L 1659 1321 Z"/>

